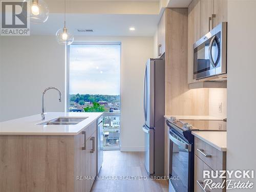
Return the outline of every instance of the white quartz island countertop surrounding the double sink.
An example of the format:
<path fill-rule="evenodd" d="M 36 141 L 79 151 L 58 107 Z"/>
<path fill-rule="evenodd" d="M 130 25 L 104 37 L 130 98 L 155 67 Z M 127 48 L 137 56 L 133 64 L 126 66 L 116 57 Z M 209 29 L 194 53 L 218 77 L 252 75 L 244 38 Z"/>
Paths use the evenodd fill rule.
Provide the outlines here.
<path fill-rule="evenodd" d="M 85 127 L 97 120 L 103 113 L 47 113 L 46 119 L 41 115 L 4 121 L 0 123 L 0 135 L 77 135 Z M 57 117 L 88 117 L 75 125 L 38 125 Z"/>

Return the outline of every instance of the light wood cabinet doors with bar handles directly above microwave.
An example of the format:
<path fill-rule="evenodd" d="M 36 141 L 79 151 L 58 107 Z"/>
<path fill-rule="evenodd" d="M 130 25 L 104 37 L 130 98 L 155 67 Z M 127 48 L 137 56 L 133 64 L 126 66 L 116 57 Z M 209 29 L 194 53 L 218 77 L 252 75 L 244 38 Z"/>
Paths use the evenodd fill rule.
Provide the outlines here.
<path fill-rule="evenodd" d="M 221 22 L 227 22 L 227 0 L 201 0 L 201 32 L 205 35 Z"/>

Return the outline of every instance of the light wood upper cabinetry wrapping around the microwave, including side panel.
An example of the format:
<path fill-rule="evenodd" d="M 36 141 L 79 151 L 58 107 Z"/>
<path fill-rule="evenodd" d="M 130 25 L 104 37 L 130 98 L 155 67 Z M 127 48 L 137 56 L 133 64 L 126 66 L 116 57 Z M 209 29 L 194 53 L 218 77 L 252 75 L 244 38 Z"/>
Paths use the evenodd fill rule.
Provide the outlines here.
<path fill-rule="evenodd" d="M 199 83 L 189 86 L 200 88 L 205 83 L 193 79 L 194 43 L 221 22 L 227 22 L 227 0 L 193 0 L 188 6 L 188 83 Z M 225 83 L 211 83 L 206 87 L 225 87 Z"/>

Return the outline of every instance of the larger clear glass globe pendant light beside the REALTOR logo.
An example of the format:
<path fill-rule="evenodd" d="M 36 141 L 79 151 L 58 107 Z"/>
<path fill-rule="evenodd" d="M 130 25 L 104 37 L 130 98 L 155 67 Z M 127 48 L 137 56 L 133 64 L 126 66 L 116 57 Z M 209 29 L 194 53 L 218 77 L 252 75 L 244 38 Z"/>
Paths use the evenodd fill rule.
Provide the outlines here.
<path fill-rule="evenodd" d="M 49 16 L 49 8 L 42 0 L 30 1 L 30 22 L 33 24 L 43 24 Z"/>

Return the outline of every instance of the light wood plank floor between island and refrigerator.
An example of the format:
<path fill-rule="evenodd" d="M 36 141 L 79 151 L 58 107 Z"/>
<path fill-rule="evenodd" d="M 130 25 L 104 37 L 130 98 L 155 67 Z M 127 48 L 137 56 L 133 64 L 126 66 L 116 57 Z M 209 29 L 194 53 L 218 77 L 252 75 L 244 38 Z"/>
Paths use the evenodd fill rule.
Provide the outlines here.
<path fill-rule="evenodd" d="M 146 176 L 148 178 L 144 167 L 143 152 L 104 151 L 104 161 L 99 173 L 99 177 L 101 176 L 114 176 L 118 180 L 95 180 L 91 192 L 168 191 L 166 180 L 120 180 L 120 176 Z"/>

